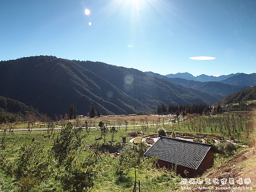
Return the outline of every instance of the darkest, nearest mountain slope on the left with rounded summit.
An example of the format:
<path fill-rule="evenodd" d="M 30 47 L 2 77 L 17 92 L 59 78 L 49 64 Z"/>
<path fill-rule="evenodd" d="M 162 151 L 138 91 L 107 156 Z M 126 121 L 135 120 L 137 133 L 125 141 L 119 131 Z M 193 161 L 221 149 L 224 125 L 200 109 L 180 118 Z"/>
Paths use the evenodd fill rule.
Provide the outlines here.
<path fill-rule="evenodd" d="M 148 109 L 73 61 L 45 56 L 22 58 L 1 63 L 0 71 L 2 95 L 33 105 L 50 115 L 68 112 L 70 103 L 79 113 L 86 113 L 90 105 L 100 108 L 104 114 Z M 15 79 L 13 74 L 16 74 Z M 107 90 L 113 95 L 112 101 L 109 101 Z M 127 103 L 134 105 L 131 107 Z"/>

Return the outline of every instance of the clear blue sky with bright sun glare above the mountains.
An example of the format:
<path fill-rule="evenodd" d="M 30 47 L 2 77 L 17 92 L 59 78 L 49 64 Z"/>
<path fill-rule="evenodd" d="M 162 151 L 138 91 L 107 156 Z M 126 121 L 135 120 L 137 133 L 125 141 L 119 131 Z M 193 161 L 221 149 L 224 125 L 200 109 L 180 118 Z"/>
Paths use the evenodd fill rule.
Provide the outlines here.
<path fill-rule="evenodd" d="M 256 73 L 256 1 L 0 0 L 0 60 L 34 55 L 162 75 Z"/>

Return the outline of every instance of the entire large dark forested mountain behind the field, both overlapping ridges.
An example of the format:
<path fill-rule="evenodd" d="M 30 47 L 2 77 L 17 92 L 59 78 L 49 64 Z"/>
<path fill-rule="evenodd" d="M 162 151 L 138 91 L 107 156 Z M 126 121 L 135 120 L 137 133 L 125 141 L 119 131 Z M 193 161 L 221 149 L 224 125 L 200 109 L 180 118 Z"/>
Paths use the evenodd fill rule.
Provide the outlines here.
<path fill-rule="evenodd" d="M 154 110 L 162 103 L 211 104 L 218 100 L 139 70 L 53 56 L 0 62 L 0 95 L 49 115 L 68 112 L 71 103 L 78 114 L 86 114 L 91 105 L 102 114 L 128 114 Z"/>

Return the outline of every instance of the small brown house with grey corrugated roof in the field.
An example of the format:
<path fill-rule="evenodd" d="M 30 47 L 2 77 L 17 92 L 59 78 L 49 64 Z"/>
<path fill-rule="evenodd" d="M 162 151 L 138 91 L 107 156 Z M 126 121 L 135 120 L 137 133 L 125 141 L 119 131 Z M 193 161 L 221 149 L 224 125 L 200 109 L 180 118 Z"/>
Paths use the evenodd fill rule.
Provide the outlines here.
<path fill-rule="evenodd" d="M 181 176 L 193 177 L 213 165 L 214 153 L 220 151 L 207 143 L 161 136 L 144 155 L 158 157 L 160 167 L 176 171 Z"/>

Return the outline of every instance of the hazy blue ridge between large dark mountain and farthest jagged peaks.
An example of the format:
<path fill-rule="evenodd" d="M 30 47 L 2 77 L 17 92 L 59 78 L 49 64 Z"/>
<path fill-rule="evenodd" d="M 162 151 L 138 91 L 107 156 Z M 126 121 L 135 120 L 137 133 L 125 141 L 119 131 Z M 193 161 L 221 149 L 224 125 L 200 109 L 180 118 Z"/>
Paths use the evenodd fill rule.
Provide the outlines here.
<path fill-rule="evenodd" d="M 172 83 L 182 85 L 184 87 L 190 87 L 197 90 L 202 90 L 207 93 L 214 93 L 221 96 L 226 96 L 232 93 L 236 93 L 239 90 L 246 89 L 248 86 L 236 86 L 230 84 L 224 84 L 217 81 L 193 81 L 193 80 L 186 80 L 181 78 L 168 78 L 166 76 L 161 76 L 157 73 L 152 72 L 145 72 L 148 75 L 155 76 L 161 79 L 165 79 L 166 81 L 171 81 Z"/>

